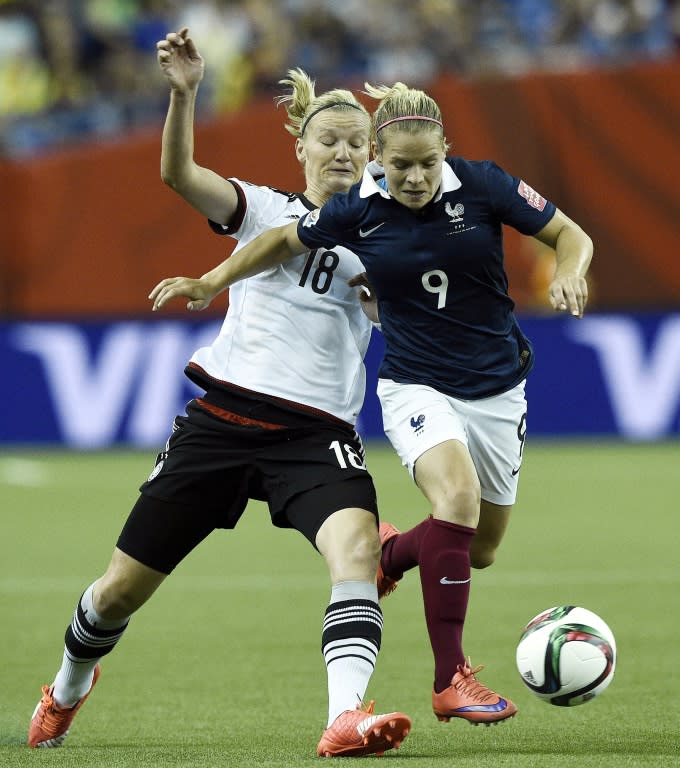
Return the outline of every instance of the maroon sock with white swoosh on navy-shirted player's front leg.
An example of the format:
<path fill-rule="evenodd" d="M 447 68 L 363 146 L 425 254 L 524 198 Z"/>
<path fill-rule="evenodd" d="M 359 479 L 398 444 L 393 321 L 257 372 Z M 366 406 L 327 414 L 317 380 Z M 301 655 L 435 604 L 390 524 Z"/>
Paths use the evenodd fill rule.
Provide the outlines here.
<path fill-rule="evenodd" d="M 470 596 L 474 535 L 474 528 L 433 519 L 420 541 L 420 583 L 437 693 L 449 687 L 457 666 L 465 661 L 463 625 Z"/>

